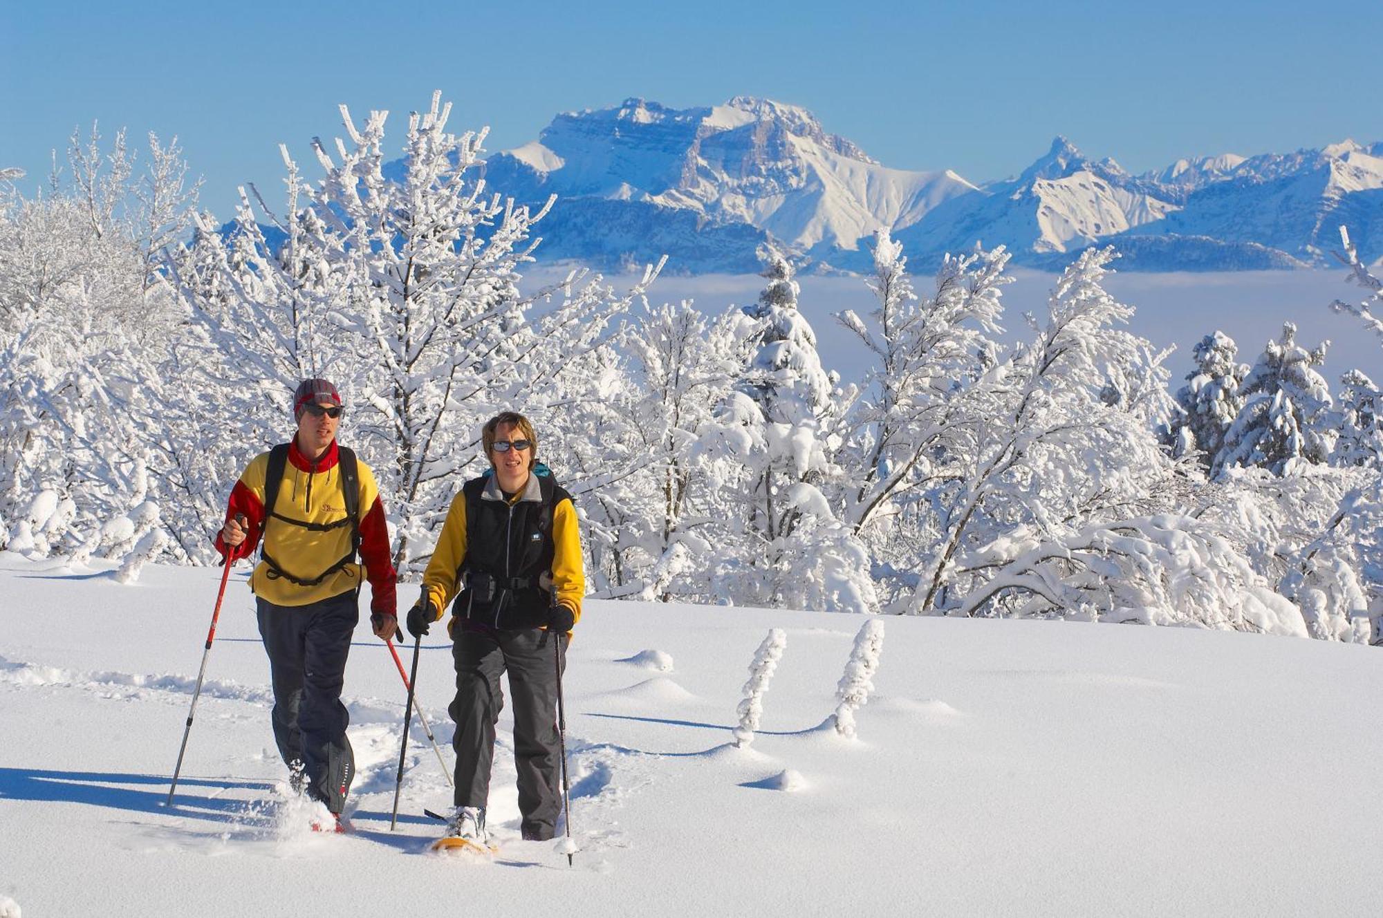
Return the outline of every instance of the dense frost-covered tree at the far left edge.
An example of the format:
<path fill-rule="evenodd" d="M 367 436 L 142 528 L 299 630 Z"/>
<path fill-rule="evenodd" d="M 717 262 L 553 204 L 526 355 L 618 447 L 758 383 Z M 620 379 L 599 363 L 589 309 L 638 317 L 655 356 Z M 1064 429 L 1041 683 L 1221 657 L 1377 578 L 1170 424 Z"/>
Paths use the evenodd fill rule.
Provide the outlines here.
<path fill-rule="evenodd" d="M 140 437 L 130 408 L 149 397 L 181 315 L 151 282 L 155 217 L 141 195 L 195 198 L 180 162 L 151 135 L 140 173 L 123 134 L 102 155 L 93 131 L 69 149 L 71 178 L 55 170 L 46 195 L 10 194 L 0 213 L 0 520 L 39 491 L 62 494 L 76 510 L 48 550 L 145 499 L 149 442 L 165 431 Z"/>

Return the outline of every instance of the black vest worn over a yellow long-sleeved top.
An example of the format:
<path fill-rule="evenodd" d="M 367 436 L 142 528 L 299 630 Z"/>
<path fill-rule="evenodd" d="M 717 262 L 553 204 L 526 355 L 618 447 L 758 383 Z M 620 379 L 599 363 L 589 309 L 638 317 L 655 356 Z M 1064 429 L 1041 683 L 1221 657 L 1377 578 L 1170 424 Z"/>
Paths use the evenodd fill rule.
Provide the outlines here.
<path fill-rule="evenodd" d="M 539 628 L 552 608 L 552 510 L 571 495 L 550 474 L 531 474 L 506 503 L 492 476 L 462 485 L 466 560 L 452 614 L 490 628 Z"/>

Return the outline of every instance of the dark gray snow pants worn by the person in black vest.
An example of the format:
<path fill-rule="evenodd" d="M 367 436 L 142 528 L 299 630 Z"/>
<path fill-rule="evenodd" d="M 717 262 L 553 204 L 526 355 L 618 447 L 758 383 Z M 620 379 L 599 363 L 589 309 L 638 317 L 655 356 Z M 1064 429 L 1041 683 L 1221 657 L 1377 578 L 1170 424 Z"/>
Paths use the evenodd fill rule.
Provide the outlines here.
<path fill-rule="evenodd" d="M 505 706 L 499 676 L 509 672 L 514 706 L 514 766 L 519 770 L 520 831 L 527 839 L 556 834 L 561 812 L 557 741 L 557 658 L 566 671 L 566 636 L 541 628 L 474 632 L 455 626 L 456 806 L 484 807 L 495 759 L 495 723 Z"/>

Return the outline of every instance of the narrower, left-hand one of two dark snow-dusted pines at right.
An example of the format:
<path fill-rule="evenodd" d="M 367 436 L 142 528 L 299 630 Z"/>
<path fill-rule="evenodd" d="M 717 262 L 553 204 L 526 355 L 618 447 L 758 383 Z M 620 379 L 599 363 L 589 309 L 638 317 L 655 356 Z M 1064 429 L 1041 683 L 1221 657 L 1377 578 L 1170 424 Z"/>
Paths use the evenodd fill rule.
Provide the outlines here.
<path fill-rule="evenodd" d="M 1196 456 L 1207 470 L 1243 406 L 1239 388 L 1249 365 L 1235 359 L 1238 353 L 1239 347 L 1224 332 L 1206 335 L 1192 351 L 1196 368 L 1177 390 L 1181 415 L 1171 424 L 1173 455 Z"/>

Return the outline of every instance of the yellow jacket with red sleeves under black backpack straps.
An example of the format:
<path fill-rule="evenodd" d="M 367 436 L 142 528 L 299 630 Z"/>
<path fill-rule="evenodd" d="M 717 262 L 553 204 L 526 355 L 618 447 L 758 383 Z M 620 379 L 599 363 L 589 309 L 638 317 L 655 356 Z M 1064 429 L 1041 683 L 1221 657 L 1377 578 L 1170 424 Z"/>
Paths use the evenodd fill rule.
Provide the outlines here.
<path fill-rule="evenodd" d="M 288 449 L 284 465 L 284 478 L 278 488 L 274 513 L 315 525 L 329 525 L 346 518 L 346 502 L 342 499 L 342 480 L 336 441 L 326 448 L 317 462 L 308 459 L 297 448 L 295 440 Z M 282 577 L 272 577 L 270 565 L 263 560 L 250 577 L 250 589 L 275 606 L 307 606 L 318 600 L 340 596 L 358 589 L 361 578 L 369 581 L 371 611 L 384 615 L 397 614 L 394 596 L 394 563 L 389 550 L 389 527 L 384 523 L 384 506 L 379 499 L 375 473 L 364 462 L 355 463 L 360 477 L 360 560 L 364 564 L 346 564 L 328 575 L 321 583 L 301 586 Z M 311 579 L 328 570 L 350 552 L 351 530 L 337 525 L 325 531 L 314 531 L 284 520 L 271 520 L 266 530 L 264 478 L 268 474 L 268 453 L 260 453 L 250 460 L 241 474 L 231 499 L 225 507 L 225 518 L 232 520 L 243 513 L 249 520 L 249 535 L 235 549 L 232 557 L 242 559 L 254 553 L 260 536 L 264 545 L 284 568 L 301 579 Z M 216 535 L 216 549 L 225 554 L 227 546 L 220 532 Z"/>

